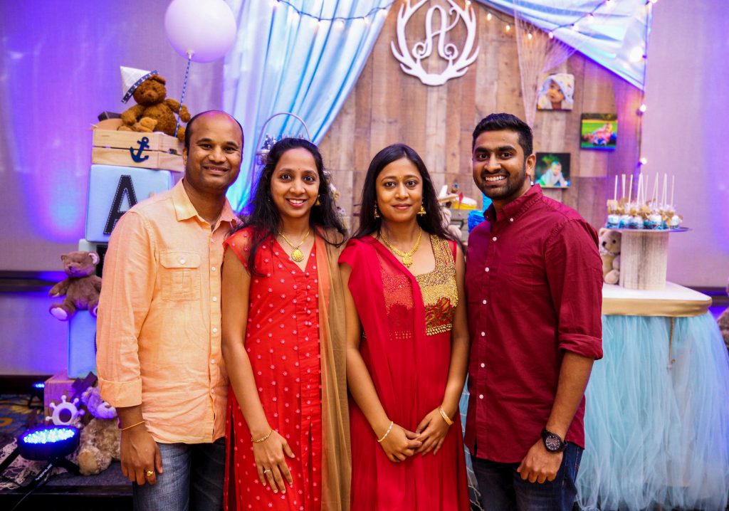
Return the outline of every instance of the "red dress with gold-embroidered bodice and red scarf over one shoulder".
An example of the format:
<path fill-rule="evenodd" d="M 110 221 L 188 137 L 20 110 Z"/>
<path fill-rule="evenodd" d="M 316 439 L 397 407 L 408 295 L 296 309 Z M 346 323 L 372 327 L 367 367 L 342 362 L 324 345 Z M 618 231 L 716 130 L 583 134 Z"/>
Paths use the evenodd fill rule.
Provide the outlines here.
<path fill-rule="evenodd" d="M 349 241 L 339 262 L 362 322 L 359 350 L 395 424 L 415 431 L 443 402 L 458 303 L 456 243 L 431 235 L 435 269 L 413 276 L 371 236 Z M 367 418 L 349 403 L 351 511 L 467 511 L 468 483 L 458 414 L 436 455 L 390 461 Z M 436 418 L 436 420 L 442 420 Z"/>

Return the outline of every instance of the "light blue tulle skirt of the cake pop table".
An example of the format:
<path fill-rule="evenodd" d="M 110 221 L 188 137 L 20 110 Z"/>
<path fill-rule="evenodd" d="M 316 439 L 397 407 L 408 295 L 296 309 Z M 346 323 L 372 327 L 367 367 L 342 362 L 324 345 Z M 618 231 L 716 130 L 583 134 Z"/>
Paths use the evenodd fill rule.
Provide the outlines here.
<path fill-rule="evenodd" d="M 585 392 L 585 510 L 724 510 L 729 359 L 709 313 L 602 316 L 604 358 Z M 669 342 L 672 330 L 672 341 Z"/>

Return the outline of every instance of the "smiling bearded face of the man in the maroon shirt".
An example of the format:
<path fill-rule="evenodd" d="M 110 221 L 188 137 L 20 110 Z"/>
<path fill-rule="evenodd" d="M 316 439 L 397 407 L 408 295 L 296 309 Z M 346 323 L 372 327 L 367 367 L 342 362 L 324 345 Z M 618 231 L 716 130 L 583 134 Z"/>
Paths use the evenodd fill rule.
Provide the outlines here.
<path fill-rule="evenodd" d="M 500 210 L 529 190 L 535 160 L 524 157 L 516 131 L 484 131 L 474 142 L 473 180 Z"/>

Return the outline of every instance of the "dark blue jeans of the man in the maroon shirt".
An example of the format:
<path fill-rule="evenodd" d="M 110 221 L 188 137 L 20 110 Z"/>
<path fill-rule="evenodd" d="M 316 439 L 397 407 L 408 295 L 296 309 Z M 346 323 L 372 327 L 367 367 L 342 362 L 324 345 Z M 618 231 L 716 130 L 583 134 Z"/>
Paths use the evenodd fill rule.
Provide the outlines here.
<path fill-rule="evenodd" d="M 518 463 L 496 463 L 473 457 L 481 505 L 486 511 L 572 511 L 580 459 L 582 448 L 568 442 L 557 477 L 552 482 L 539 484 L 523 480 L 516 471 Z"/>

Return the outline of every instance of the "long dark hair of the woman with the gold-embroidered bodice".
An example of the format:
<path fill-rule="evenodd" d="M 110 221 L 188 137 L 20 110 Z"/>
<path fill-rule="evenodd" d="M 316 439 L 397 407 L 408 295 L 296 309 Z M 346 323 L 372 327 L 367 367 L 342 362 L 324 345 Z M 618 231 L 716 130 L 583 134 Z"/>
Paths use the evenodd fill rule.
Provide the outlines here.
<path fill-rule="evenodd" d="M 372 234 L 380 230 L 382 226 L 382 218 L 375 218 L 375 206 L 377 205 L 377 176 L 380 175 L 382 169 L 390 163 L 407 158 L 416 166 L 421 178 L 423 179 L 423 207 L 426 214 L 422 217 L 417 215 L 418 225 L 429 234 L 440 236 L 453 241 L 459 241 L 453 238 L 443 226 L 443 213 L 440 211 L 440 203 L 438 203 L 435 188 L 430 179 L 428 169 L 423 160 L 415 150 L 405 144 L 392 144 L 378 152 L 370 162 L 370 168 L 367 169 L 367 176 L 364 177 L 364 187 L 362 188 L 362 206 L 359 210 L 359 227 L 352 238 L 362 238 L 363 236 Z"/>

